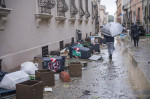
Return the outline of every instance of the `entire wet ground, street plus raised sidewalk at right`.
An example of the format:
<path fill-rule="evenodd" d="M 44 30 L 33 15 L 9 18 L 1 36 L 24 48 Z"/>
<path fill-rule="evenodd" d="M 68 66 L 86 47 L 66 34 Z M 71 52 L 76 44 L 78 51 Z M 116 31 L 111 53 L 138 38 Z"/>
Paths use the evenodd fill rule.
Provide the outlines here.
<path fill-rule="evenodd" d="M 128 37 L 118 37 L 115 48 L 112 61 L 106 46 L 99 54 L 103 60 L 80 60 L 88 66 L 69 83 L 55 74 L 53 91 L 44 92 L 44 99 L 150 99 L 150 38 L 142 37 L 135 48 Z"/>

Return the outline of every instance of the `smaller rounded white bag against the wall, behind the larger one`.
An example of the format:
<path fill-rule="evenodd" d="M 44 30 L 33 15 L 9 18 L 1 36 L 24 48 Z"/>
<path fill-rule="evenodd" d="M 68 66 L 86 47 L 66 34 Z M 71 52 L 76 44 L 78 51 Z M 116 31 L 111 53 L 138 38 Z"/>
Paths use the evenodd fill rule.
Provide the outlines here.
<path fill-rule="evenodd" d="M 34 75 L 35 71 L 38 70 L 33 62 L 24 62 L 21 64 L 21 70 L 29 75 Z"/>

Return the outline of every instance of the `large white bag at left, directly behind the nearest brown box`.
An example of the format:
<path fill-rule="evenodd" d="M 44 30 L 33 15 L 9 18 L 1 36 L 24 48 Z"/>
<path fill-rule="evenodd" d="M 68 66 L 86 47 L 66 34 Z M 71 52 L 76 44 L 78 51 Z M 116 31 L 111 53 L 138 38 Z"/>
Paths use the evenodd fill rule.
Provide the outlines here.
<path fill-rule="evenodd" d="M 24 71 L 16 71 L 6 74 L 0 83 L 0 87 L 4 89 L 16 89 L 16 84 L 29 80 L 29 75 Z"/>

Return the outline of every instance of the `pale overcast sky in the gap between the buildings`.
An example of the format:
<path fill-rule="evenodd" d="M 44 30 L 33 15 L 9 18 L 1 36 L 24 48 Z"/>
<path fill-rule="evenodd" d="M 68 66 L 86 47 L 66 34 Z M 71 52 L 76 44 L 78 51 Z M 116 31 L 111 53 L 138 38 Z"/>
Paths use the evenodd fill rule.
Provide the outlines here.
<path fill-rule="evenodd" d="M 116 13 L 116 0 L 101 0 L 101 5 L 106 6 L 106 11 L 109 12 L 109 15 Z"/>

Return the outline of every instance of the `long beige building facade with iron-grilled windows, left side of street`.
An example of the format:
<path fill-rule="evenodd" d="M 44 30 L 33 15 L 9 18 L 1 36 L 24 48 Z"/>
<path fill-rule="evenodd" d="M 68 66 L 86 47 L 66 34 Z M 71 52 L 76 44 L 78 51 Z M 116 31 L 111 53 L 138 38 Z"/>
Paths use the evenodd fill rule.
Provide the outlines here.
<path fill-rule="evenodd" d="M 76 30 L 99 32 L 100 0 L 0 0 L 0 59 L 13 71 L 25 61 L 76 41 Z"/>

